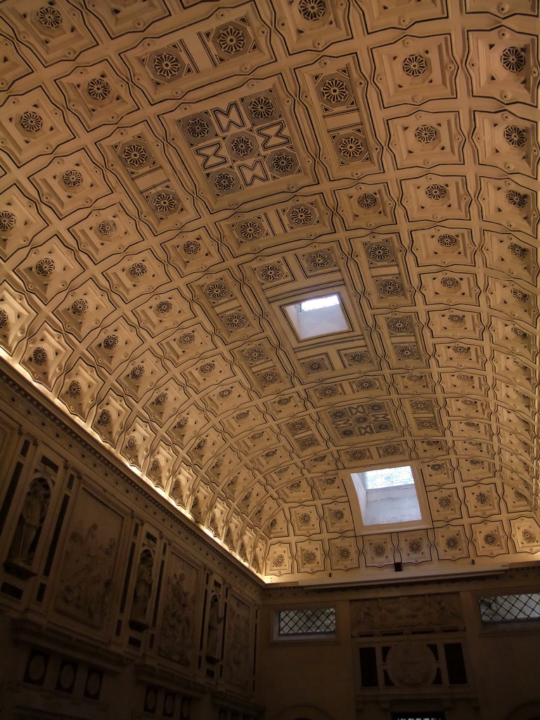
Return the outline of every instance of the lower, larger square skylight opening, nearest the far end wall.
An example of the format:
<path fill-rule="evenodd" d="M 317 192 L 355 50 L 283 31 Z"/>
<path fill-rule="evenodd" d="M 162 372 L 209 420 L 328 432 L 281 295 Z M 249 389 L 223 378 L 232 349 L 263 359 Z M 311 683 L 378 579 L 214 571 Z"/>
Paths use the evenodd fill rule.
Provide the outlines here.
<path fill-rule="evenodd" d="M 364 525 L 388 525 L 422 520 L 410 466 L 353 472 Z"/>

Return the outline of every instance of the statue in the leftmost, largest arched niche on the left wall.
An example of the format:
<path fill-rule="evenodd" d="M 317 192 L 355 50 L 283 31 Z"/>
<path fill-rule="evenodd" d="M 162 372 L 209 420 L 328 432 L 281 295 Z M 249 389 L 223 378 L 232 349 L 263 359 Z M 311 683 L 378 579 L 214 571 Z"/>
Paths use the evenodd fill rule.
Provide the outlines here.
<path fill-rule="evenodd" d="M 32 480 L 21 514 L 17 521 L 17 528 L 9 547 L 8 560 L 5 567 L 8 572 L 19 577 L 30 577 L 35 572 L 30 570 L 34 559 L 37 541 L 40 539 L 41 528 L 50 503 L 50 487 L 42 477 Z"/>

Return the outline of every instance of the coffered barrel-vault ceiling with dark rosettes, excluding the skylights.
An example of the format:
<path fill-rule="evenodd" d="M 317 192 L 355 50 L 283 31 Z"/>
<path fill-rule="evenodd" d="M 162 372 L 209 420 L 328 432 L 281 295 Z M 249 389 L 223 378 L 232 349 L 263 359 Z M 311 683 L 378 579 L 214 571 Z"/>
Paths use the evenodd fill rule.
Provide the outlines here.
<path fill-rule="evenodd" d="M 536 0 L 1 9 L 4 359 L 266 580 L 540 552 Z"/>

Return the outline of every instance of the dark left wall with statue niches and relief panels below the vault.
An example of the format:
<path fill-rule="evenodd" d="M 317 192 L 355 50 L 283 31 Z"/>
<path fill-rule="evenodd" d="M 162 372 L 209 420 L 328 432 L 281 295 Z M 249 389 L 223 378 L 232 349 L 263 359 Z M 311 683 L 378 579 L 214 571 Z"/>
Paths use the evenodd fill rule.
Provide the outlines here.
<path fill-rule="evenodd" d="M 252 720 L 261 586 L 4 377 L 6 718 Z"/>

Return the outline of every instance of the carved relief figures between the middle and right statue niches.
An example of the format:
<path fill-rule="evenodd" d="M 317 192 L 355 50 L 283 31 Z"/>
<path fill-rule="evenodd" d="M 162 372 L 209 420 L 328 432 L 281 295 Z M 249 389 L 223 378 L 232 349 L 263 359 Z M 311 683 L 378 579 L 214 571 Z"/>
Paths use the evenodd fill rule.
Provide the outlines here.
<path fill-rule="evenodd" d="M 161 635 L 159 654 L 167 660 L 189 666 L 193 635 L 193 599 L 192 593 L 185 588 L 186 575 L 180 572 L 169 577 Z"/>

